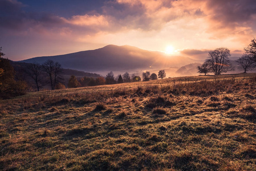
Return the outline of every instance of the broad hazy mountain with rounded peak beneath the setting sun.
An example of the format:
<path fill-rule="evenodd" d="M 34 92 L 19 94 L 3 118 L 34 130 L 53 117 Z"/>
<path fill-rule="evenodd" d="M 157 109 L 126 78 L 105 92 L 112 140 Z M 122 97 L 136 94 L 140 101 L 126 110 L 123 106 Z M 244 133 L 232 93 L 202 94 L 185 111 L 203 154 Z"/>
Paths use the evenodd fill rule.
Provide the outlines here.
<path fill-rule="evenodd" d="M 97 73 L 159 70 L 161 68 L 181 67 L 185 64 L 198 62 L 183 56 L 169 56 L 163 52 L 147 51 L 127 45 L 108 45 L 96 50 L 65 55 L 42 56 L 20 62 L 37 62 L 42 64 L 48 59 L 59 62 L 63 68 Z"/>

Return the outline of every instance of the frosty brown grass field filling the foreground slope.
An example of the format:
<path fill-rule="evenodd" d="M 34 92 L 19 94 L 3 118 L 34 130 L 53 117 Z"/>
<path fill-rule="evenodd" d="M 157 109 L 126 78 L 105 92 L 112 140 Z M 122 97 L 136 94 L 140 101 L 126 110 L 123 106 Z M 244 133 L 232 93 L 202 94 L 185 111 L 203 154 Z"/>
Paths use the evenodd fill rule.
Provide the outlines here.
<path fill-rule="evenodd" d="M 256 170 L 256 75 L 0 101 L 0 170 Z"/>

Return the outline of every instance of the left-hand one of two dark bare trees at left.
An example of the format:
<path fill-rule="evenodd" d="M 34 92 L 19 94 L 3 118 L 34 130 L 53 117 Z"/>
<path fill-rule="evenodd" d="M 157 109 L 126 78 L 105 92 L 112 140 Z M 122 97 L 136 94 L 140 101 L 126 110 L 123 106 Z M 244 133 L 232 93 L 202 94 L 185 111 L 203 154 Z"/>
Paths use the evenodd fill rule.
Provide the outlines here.
<path fill-rule="evenodd" d="M 43 86 L 42 72 L 43 72 L 42 66 L 39 63 L 35 63 L 35 62 L 29 65 L 26 70 L 26 74 L 30 76 L 32 80 L 34 80 L 37 91 L 39 91 L 39 88 Z"/>

